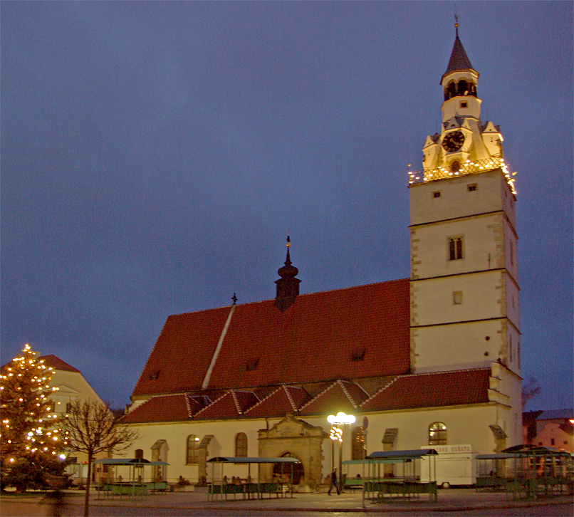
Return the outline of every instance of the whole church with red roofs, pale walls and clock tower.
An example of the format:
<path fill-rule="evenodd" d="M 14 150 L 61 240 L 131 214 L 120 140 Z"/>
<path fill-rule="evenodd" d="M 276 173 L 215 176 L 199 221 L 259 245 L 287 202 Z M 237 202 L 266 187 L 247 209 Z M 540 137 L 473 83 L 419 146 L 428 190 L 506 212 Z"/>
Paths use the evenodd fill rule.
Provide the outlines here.
<path fill-rule="evenodd" d="M 516 196 L 478 78 L 457 28 L 442 131 L 409 173 L 410 278 L 300 294 L 288 247 L 275 299 L 169 316 L 127 407 L 133 456 L 193 483 L 215 456 L 294 456 L 293 481 L 316 487 L 338 463 L 338 412 L 356 418 L 343 460 L 521 443 Z"/>

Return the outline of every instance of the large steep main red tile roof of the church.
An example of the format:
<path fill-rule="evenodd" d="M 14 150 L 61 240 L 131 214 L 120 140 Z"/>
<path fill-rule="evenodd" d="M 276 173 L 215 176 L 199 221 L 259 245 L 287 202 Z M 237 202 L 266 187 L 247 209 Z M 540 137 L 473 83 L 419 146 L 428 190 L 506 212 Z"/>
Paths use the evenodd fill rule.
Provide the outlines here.
<path fill-rule="evenodd" d="M 220 340 L 207 390 L 405 374 L 409 279 L 169 316 L 132 397 L 200 390 Z"/>

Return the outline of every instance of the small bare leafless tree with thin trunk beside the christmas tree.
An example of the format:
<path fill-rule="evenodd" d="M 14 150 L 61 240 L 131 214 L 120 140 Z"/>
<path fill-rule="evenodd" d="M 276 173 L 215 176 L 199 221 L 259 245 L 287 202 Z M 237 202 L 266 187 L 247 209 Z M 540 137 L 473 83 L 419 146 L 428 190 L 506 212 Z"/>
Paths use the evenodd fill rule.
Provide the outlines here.
<path fill-rule="evenodd" d="M 120 454 L 129 449 L 139 436 L 134 429 L 121 423 L 121 414 L 101 402 L 75 400 L 71 402 L 68 417 L 62 424 L 68 439 L 67 448 L 88 454 L 88 479 L 85 483 L 84 517 L 90 507 L 90 481 L 92 461 L 96 454 Z"/>

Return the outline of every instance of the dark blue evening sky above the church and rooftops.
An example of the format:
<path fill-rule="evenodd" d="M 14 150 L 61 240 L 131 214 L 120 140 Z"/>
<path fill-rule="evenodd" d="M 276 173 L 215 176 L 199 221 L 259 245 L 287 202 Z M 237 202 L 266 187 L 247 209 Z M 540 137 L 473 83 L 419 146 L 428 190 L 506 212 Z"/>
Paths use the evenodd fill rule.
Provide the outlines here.
<path fill-rule="evenodd" d="M 528 409 L 573 401 L 573 4 L 2 2 L 1 362 L 129 402 L 168 315 L 409 276 L 461 41 L 517 171 Z M 177 360 L 177 357 L 174 357 Z"/>

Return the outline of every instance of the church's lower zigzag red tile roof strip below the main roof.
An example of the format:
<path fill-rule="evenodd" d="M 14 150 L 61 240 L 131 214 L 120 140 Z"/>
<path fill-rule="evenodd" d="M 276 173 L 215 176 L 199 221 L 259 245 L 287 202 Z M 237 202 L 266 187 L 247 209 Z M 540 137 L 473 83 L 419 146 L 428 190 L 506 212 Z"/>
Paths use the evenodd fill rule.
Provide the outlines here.
<path fill-rule="evenodd" d="M 489 368 L 397 375 L 368 397 L 358 382 L 337 380 L 315 397 L 301 387 L 281 386 L 263 399 L 254 392 L 226 390 L 213 402 L 197 395 L 151 397 L 125 417 L 130 424 L 185 420 L 262 419 L 296 414 L 308 417 L 338 411 L 353 413 L 447 407 L 489 402 Z M 195 402 L 194 402 L 195 401 Z"/>

